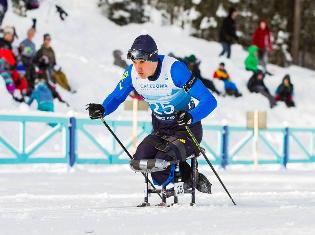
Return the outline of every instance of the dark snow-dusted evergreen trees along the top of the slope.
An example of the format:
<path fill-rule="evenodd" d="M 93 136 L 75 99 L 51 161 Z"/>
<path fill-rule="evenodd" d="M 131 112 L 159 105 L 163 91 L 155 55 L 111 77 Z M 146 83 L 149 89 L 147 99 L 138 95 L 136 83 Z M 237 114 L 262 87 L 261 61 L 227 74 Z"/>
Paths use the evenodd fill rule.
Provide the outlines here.
<path fill-rule="evenodd" d="M 105 0 L 101 7 L 106 16 L 119 25 L 149 21 L 150 9 L 156 8 L 163 16 L 163 24 L 177 25 L 193 36 L 215 41 L 218 41 L 223 18 L 229 8 L 234 7 L 240 13 L 236 19 L 239 43 L 247 48 L 259 21 L 265 19 L 274 45 L 270 62 L 287 66 L 292 61 L 289 51 L 293 51 L 295 1 L 301 2 L 303 24 L 298 30 L 300 34 L 295 33 L 299 34 L 299 43 L 298 58 L 294 61 L 315 68 L 314 0 Z"/>

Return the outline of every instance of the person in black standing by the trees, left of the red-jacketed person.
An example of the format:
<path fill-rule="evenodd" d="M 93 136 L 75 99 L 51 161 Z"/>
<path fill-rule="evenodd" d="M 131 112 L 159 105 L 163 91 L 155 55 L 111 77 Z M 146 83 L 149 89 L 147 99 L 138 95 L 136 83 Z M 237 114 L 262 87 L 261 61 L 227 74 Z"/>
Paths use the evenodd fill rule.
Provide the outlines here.
<path fill-rule="evenodd" d="M 238 11 L 235 8 L 231 8 L 229 15 L 224 18 L 222 26 L 219 31 L 219 40 L 222 44 L 222 52 L 219 56 L 226 53 L 226 57 L 231 57 L 231 45 L 233 41 L 238 40 L 236 35 L 235 19 L 238 15 Z"/>

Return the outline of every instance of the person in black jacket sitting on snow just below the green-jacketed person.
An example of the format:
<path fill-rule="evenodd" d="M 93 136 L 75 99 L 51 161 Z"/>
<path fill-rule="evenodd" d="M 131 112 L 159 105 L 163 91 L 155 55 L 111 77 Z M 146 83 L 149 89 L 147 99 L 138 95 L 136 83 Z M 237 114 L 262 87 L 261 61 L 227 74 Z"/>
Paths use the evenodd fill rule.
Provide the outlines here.
<path fill-rule="evenodd" d="M 264 76 L 264 73 L 261 70 L 258 70 L 249 79 L 247 88 L 250 92 L 260 93 L 265 96 L 269 100 L 270 108 L 273 108 L 276 105 L 276 100 L 266 87 L 264 83 Z"/>

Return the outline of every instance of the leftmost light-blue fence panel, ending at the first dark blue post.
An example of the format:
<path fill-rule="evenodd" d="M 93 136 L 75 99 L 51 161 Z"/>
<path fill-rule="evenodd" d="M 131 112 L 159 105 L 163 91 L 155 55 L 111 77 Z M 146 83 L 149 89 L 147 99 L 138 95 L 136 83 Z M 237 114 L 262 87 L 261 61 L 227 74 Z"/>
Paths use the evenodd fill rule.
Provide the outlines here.
<path fill-rule="evenodd" d="M 18 130 L 10 126 L 12 123 L 19 125 Z M 0 146 L 7 149 L 13 156 L 4 157 L 0 152 L 1 164 L 18 164 L 18 163 L 67 163 L 69 160 L 69 119 L 66 117 L 48 117 L 48 116 L 20 116 L 20 115 L 0 115 Z M 45 125 L 39 126 L 39 125 Z M 47 125 L 46 125 L 47 124 Z M 28 125 L 30 126 L 29 128 Z M 17 144 L 5 139 L 3 131 L 9 133 L 10 136 L 17 134 L 15 140 Z M 36 138 L 27 145 L 27 134 L 35 134 L 40 132 Z M 38 153 L 42 148 L 56 135 L 61 134 L 60 145 L 61 151 L 44 155 Z M 37 154 L 36 154 L 37 153 Z"/>

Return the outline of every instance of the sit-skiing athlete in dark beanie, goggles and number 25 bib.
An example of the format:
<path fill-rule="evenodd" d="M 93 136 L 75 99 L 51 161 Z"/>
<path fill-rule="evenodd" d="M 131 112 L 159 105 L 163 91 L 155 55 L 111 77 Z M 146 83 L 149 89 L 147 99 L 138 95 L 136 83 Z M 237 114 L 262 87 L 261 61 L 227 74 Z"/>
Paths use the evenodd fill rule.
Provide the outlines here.
<path fill-rule="evenodd" d="M 150 35 L 138 36 L 127 58 L 132 64 L 102 104 L 88 104 L 89 116 L 98 119 L 109 115 L 135 89 L 150 106 L 153 131 L 139 144 L 133 158 L 180 161 L 184 187 L 190 188 L 191 167 L 185 159 L 195 153 L 195 146 L 185 126 L 189 126 L 201 142 L 201 119 L 216 108 L 217 101 L 184 63 L 159 55 Z M 194 100 L 198 101 L 197 105 Z M 152 172 L 153 182 L 166 186 L 172 182 L 174 170 L 175 166 L 171 164 L 164 171 Z M 211 193 L 211 183 L 201 173 L 197 175 L 197 189 Z"/>

